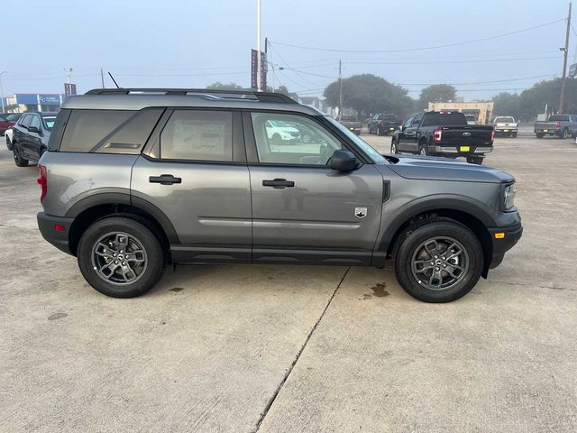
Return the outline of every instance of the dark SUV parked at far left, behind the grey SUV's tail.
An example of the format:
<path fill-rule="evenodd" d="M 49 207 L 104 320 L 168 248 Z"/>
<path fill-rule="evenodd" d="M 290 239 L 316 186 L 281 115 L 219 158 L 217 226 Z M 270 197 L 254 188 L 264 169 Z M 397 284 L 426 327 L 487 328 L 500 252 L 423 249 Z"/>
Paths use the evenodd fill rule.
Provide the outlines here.
<path fill-rule="evenodd" d="M 37 162 L 48 149 L 50 132 L 56 122 L 56 113 L 27 113 L 12 127 L 12 152 L 18 167 L 29 161 Z"/>

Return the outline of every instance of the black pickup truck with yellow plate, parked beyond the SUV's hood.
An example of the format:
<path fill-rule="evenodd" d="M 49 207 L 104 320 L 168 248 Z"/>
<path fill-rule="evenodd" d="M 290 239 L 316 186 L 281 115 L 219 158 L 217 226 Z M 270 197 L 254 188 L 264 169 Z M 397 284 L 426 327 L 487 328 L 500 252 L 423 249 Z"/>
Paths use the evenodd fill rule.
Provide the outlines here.
<path fill-rule="evenodd" d="M 493 151 L 494 133 L 492 125 L 467 124 L 465 115 L 456 111 L 417 113 L 393 134 L 390 152 L 463 156 L 467 162 L 481 164 L 485 154 Z"/>

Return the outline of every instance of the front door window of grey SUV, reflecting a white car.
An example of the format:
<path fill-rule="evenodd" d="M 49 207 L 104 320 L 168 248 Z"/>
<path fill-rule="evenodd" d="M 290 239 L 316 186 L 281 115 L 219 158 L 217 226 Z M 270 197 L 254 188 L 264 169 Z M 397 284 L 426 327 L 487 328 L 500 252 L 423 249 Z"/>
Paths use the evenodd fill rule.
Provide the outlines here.
<path fill-rule="evenodd" d="M 343 148 L 333 134 L 303 115 L 252 113 L 259 161 L 278 164 L 326 165 Z"/>

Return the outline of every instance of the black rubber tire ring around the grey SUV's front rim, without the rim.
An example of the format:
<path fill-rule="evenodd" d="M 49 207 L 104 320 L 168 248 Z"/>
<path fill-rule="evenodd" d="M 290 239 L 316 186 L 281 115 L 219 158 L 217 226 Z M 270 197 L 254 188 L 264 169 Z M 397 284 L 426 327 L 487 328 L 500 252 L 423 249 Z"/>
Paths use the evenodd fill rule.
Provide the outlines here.
<path fill-rule="evenodd" d="M 428 290 L 415 280 L 411 271 L 413 253 L 418 245 L 436 236 L 449 236 L 463 244 L 469 255 L 469 271 L 463 281 L 444 291 Z M 412 297 L 425 302 L 450 302 L 462 298 L 477 284 L 483 269 L 483 251 L 477 237 L 467 227 L 452 221 L 439 221 L 417 227 L 399 245 L 395 254 L 395 272 L 401 287 Z"/>

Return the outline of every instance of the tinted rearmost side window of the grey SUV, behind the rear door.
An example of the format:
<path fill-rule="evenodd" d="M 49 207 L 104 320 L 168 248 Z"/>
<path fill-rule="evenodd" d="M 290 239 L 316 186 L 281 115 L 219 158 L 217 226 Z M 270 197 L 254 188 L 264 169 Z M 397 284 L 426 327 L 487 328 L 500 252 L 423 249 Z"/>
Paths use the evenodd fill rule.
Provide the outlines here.
<path fill-rule="evenodd" d="M 162 111 L 73 110 L 60 152 L 140 153 Z"/>

